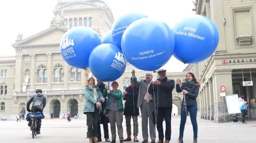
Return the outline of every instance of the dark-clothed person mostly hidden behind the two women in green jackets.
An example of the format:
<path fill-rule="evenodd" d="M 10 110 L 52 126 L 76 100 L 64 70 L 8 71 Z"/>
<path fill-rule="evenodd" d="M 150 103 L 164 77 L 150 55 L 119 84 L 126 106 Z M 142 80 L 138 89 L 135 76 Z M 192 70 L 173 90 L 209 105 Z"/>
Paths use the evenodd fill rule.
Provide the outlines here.
<path fill-rule="evenodd" d="M 105 84 L 97 79 L 97 85 L 100 88 L 100 92 L 103 94 L 103 90 L 105 89 Z M 102 110 L 106 107 L 106 97 L 105 97 L 105 102 L 101 102 Z M 98 122 L 98 132 L 97 132 L 97 141 L 100 142 L 102 141 L 101 139 L 101 130 L 100 130 L 100 124 L 103 124 L 103 130 L 104 130 L 104 138 L 106 142 L 110 142 L 109 135 L 108 135 L 108 118 L 100 112 L 100 118 Z"/>

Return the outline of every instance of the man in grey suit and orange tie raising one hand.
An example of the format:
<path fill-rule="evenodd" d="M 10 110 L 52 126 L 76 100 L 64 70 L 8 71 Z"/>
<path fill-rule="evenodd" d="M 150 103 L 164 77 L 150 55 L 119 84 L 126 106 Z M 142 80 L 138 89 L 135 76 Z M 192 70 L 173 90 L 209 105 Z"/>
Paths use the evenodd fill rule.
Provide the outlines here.
<path fill-rule="evenodd" d="M 150 138 L 151 143 L 155 143 L 156 141 L 156 124 L 154 124 L 154 98 L 152 95 L 148 93 L 148 88 L 152 81 L 151 72 L 147 71 L 145 75 L 145 80 L 137 81 L 135 77 L 135 70 L 132 69 L 132 81 L 135 86 L 139 87 L 139 97 L 137 107 L 141 107 L 141 127 L 142 127 L 142 143 L 148 142 L 148 120 L 149 120 L 149 128 L 150 128 Z"/>

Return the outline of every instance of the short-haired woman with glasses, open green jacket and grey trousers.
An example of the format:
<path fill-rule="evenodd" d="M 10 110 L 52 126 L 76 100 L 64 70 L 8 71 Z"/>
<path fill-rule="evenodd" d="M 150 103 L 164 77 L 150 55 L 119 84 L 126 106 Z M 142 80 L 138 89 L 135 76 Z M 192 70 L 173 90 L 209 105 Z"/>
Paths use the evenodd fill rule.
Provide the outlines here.
<path fill-rule="evenodd" d="M 108 90 L 108 86 L 106 85 L 103 91 L 104 97 L 108 97 L 106 108 L 108 109 L 108 120 L 112 135 L 111 143 L 115 143 L 116 139 L 115 124 L 117 124 L 117 133 L 120 143 L 124 143 L 122 126 L 124 105 L 122 101 L 122 91 L 117 89 L 118 83 L 116 81 L 112 82 L 111 86 L 113 90 Z"/>

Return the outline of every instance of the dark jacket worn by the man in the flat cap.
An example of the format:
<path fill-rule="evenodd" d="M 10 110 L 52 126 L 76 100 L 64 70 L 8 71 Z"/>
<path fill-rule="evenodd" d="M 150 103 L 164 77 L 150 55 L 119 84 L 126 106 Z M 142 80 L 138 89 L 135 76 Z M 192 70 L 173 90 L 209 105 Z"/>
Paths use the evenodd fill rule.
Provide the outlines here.
<path fill-rule="evenodd" d="M 157 80 L 160 81 L 158 78 Z M 154 86 L 154 89 L 153 89 Z M 172 108 L 172 90 L 174 89 L 174 80 L 169 80 L 167 77 L 161 82 L 160 85 L 150 84 L 148 93 L 155 97 L 156 107 L 169 107 Z M 158 91 L 158 92 L 157 92 Z"/>

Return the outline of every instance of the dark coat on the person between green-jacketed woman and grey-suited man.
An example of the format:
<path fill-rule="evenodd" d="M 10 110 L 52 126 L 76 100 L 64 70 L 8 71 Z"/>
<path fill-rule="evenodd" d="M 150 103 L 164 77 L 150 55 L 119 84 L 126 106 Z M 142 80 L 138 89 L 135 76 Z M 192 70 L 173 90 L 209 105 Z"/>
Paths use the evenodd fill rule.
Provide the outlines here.
<path fill-rule="evenodd" d="M 123 98 L 126 100 L 124 103 L 124 115 L 139 116 L 139 108 L 137 107 L 139 88 L 134 86 L 133 89 L 131 89 L 129 86 L 126 87 L 125 91 L 127 94 Z"/>

